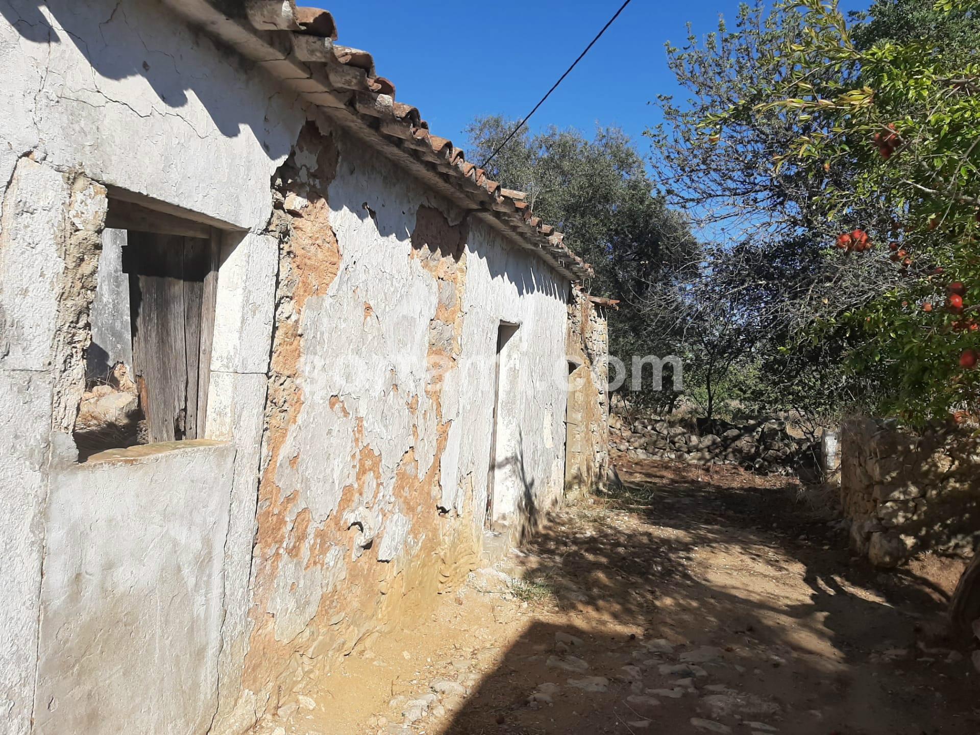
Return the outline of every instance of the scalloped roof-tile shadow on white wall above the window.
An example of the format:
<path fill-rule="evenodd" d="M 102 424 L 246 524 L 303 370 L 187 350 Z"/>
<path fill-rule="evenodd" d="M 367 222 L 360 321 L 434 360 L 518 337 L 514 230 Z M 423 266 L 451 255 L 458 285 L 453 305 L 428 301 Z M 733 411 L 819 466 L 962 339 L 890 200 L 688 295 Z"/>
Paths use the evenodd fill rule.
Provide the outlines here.
<path fill-rule="evenodd" d="M 0 16 L 28 41 L 73 44 L 95 72 L 105 78 L 120 80 L 142 76 L 166 107 L 184 107 L 188 101 L 187 92 L 192 91 L 222 135 L 235 137 L 246 127 L 252 130 L 270 158 L 289 153 L 288 145 L 272 150 L 270 136 L 266 134 L 266 108 L 232 104 L 235 90 L 229 90 L 226 84 L 219 83 L 212 74 L 202 70 L 201 60 L 195 59 L 187 48 L 188 42 L 194 42 L 195 46 L 207 49 L 210 41 L 186 26 L 179 36 L 160 32 L 168 25 L 182 24 L 174 13 L 159 4 L 141 3 L 136 12 L 137 20 L 127 15 L 127 12 L 133 13 L 135 3 L 102 3 L 101 13 L 92 5 L 73 0 L 5 0 L 0 3 Z M 52 27 L 41 13 L 42 7 L 63 28 L 62 31 Z M 155 16 L 166 18 L 155 23 Z M 237 66 L 240 61 L 233 52 L 216 50 L 214 54 L 227 56 L 235 65 L 234 71 L 241 75 L 243 86 L 248 83 L 252 73 Z"/>

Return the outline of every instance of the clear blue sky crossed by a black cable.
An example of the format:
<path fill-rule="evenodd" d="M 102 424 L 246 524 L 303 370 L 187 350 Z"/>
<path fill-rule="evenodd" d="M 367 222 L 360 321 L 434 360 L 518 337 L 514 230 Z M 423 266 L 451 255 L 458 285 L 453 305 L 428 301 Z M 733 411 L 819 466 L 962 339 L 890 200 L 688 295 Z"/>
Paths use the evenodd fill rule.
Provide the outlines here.
<path fill-rule="evenodd" d="M 613 16 L 622 0 L 299 0 L 329 10 L 337 42 L 369 51 L 396 98 L 415 105 L 429 128 L 465 147 L 475 115 L 520 119 Z M 844 0 L 842 8 L 869 2 Z M 718 15 L 734 23 L 736 0 L 633 0 L 531 119 L 530 126 L 618 125 L 647 152 L 648 105 L 677 93 L 664 41 L 682 45 Z"/>

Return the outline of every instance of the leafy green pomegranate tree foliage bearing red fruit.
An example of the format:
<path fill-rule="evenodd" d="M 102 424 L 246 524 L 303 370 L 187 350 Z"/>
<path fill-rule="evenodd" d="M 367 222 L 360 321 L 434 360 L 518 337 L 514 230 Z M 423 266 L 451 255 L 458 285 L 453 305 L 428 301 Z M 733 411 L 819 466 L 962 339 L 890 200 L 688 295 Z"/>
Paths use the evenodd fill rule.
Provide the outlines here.
<path fill-rule="evenodd" d="M 920 7 L 931 23 L 918 35 L 891 5 L 859 33 L 836 3 L 785 6 L 805 35 L 760 54 L 766 81 L 701 122 L 709 137 L 760 116 L 793 131 L 764 170 L 810 182 L 827 262 L 883 274 L 857 304 L 833 297 L 821 325 L 857 332 L 852 366 L 878 370 L 883 407 L 916 421 L 975 411 L 980 395 L 980 64 L 963 45 L 976 5 Z"/>

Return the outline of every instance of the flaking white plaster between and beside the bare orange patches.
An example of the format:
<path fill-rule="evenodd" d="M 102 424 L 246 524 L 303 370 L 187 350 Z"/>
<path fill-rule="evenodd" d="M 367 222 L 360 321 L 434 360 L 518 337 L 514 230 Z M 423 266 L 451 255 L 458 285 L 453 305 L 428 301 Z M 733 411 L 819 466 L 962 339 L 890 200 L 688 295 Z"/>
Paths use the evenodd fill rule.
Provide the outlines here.
<path fill-rule="evenodd" d="M 411 557 L 421 541 L 417 520 L 437 507 L 462 512 L 464 478 L 475 479 L 472 508 L 483 521 L 486 469 L 493 413 L 493 368 L 501 320 L 521 324 L 512 340 L 510 368 L 502 375 L 507 400 L 502 415 L 515 429 L 501 452 L 519 462 L 501 516 L 544 509 L 562 491 L 564 467 L 565 293 L 568 284 L 541 262 L 473 222 L 466 247 L 462 356 L 441 396 L 441 420 L 451 421 L 439 459 L 440 488 L 432 505 L 403 507 L 394 494 L 399 462 L 413 450 L 417 474 L 435 461 L 437 417 L 425 392 L 430 321 L 439 283 L 413 256 L 411 234 L 421 205 L 454 213 L 423 186 L 364 146 L 336 136 L 340 152 L 328 191 L 330 225 L 341 253 L 340 269 L 322 295 L 310 296 L 300 332 L 303 353 L 297 379 L 303 408 L 290 427 L 275 469 L 285 494 L 296 493 L 288 523 L 312 514 L 310 540 L 341 507 L 344 488 L 359 493 L 349 522 L 364 526 L 360 538 L 376 538 L 369 554 L 378 561 Z M 456 214 L 457 219 L 460 217 Z M 324 244 L 325 246 L 325 244 Z M 368 309 L 369 307 L 369 309 Z M 560 366 L 560 379 L 544 366 Z M 410 408 L 417 399 L 417 411 Z M 359 422 L 363 419 L 363 432 Z M 358 453 L 380 456 L 380 477 L 358 486 Z M 350 507 L 349 499 L 344 502 Z M 347 540 L 325 555 L 322 567 L 281 555 L 276 588 L 264 613 L 275 619 L 278 640 L 296 637 L 313 619 L 321 596 L 342 585 L 351 554 Z"/>

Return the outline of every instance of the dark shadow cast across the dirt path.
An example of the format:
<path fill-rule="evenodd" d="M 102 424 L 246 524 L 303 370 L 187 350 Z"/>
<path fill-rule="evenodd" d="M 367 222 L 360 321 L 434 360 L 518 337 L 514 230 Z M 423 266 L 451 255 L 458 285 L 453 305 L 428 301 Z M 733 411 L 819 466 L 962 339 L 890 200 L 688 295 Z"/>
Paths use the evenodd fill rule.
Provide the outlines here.
<path fill-rule="evenodd" d="M 796 532 L 781 538 L 768 532 L 772 519 L 794 505 L 791 491 L 664 477 L 662 486 L 645 488 L 643 496 L 628 499 L 630 507 L 645 506 L 635 516 L 639 523 L 613 522 L 612 515 L 595 517 L 596 522 L 589 524 L 565 518 L 567 525 L 550 527 L 525 547 L 541 560 L 525 579 L 547 585 L 561 612 L 583 623 L 580 627 L 531 624 L 471 693 L 443 731 L 446 735 L 687 733 L 697 731 L 689 723 L 692 715 L 730 723 L 731 715 L 704 710 L 712 694 L 704 691 L 706 684 L 730 685 L 766 706 L 775 705 L 779 715 L 744 716 L 774 719 L 772 724 L 785 718 L 794 723 L 789 729 L 797 735 L 933 732 L 937 708 L 965 717 L 957 721 L 967 729 L 950 732 L 975 731 L 969 728 L 977 724 L 977 715 L 968 714 L 975 706 L 975 684 L 965 674 L 944 680 L 946 697 L 937 700 L 931 691 L 936 671 L 915 662 L 915 657 L 886 663 L 907 679 L 901 692 L 889 691 L 887 682 L 871 675 L 873 669 L 855 667 L 873 664 L 876 656 L 905 645 L 915 635 L 916 619 L 907 613 L 909 609 L 927 617 L 940 613 L 942 606 L 915 584 L 866 594 L 875 587 L 875 573 L 866 566 L 847 564 L 843 552 L 800 544 Z M 674 532 L 659 531 L 655 536 L 649 530 L 653 525 Z M 821 526 L 829 532 L 825 524 Z M 706 547 L 716 551 L 734 547 L 739 543 L 735 533 L 750 543 L 743 541 L 733 551 L 772 565 L 777 575 L 799 571 L 773 562 L 773 552 L 803 564 L 809 599 L 806 588 L 800 587 L 788 599 L 753 594 L 751 574 L 731 587 L 691 573 L 688 564 L 693 555 Z M 835 554 L 841 558 L 832 558 Z M 556 642 L 559 632 L 582 643 L 563 648 Z M 677 651 L 668 654 L 643 646 L 660 638 L 678 644 Z M 821 640 L 832 651 L 815 651 Z M 675 680 L 692 675 L 679 670 L 662 673 L 660 666 L 677 665 L 680 653 L 701 646 L 720 649 L 719 664 L 704 664 L 709 678 L 697 678 L 704 696 L 699 700 L 693 694 L 681 699 L 657 695 L 660 706 L 647 708 L 642 701 L 646 688 L 670 690 Z M 556 666 L 554 657 L 567 667 Z M 630 671 L 623 666 L 639 668 Z M 742 674 L 737 667 L 755 670 L 756 675 Z M 590 677 L 606 682 L 592 682 L 596 688 L 590 691 Z M 642 680 L 642 686 L 633 684 L 637 680 Z M 558 687 L 542 686 L 548 683 Z M 714 699 L 723 706 L 730 690 L 716 691 L 720 694 Z M 536 693 L 552 699 L 553 706 L 547 699 L 529 705 L 528 698 Z M 627 700 L 637 694 L 639 700 Z M 906 705 L 896 706 L 896 697 L 904 698 Z M 821 717 L 809 722 L 807 712 L 815 709 Z M 912 714 L 911 729 L 909 711 L 917 712 Z M 652 730 L 622 724 L 648 717 L 653 720 Z"/>

